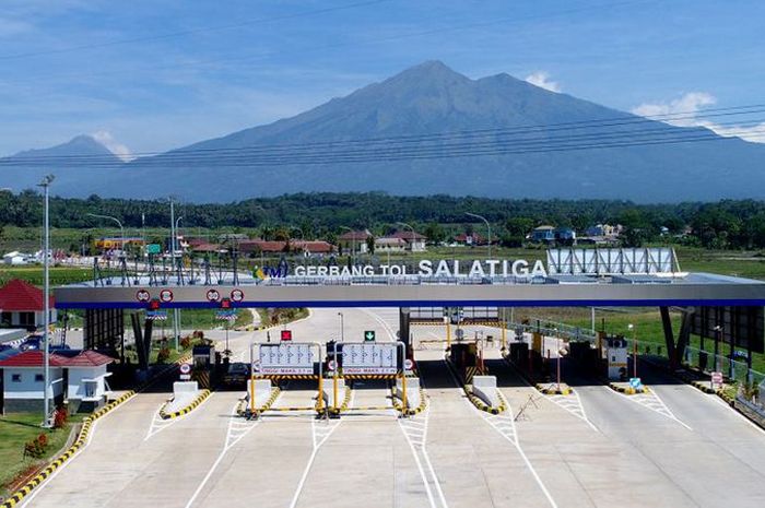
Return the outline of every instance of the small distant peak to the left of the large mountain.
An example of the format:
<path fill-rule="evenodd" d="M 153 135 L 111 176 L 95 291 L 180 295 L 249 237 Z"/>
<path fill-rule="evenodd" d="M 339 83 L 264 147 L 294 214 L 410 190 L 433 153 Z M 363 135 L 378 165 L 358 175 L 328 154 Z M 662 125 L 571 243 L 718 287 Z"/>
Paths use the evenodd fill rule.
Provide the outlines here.
<path fill-rule="evenodd" d="M 111 166 L 122 161 L 90 135 L 78 135 L 49 149 L 19 152 L 0 158 L 0 181 L 14 191 L 34 188 L 48 174 L 56 176 L 56 193 L 82 196 L 83 185 L 109 187 Z"/>

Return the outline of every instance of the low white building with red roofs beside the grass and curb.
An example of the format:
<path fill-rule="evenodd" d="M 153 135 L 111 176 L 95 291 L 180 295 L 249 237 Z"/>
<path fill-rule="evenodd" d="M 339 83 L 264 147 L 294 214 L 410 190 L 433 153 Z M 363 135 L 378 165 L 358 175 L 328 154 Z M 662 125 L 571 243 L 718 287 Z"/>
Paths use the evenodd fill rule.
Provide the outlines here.
<path fill-rule="evenodd" d="M 91 412 L 106 403 L 110 388 L 107 365 L 114 358 L 95 351 L 57 351 L 49 356 L 48 398 L 55 405 L 67 404 L 70 412 Z M 2 412 L 39 411 L 43 407 L 44 355 L 23 351 L 0 359 Z"/>

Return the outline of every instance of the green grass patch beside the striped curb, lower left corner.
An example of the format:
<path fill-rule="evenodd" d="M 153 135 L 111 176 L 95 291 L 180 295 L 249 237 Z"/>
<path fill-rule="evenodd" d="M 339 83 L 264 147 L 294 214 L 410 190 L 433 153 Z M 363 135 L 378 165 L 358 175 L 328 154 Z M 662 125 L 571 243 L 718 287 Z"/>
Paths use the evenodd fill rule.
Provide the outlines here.
<path fill-rule="evenodd" d="M 40 465 L 58 453 L 67 442 L 72 425 L 85 415 L 71 415 L 64 428 L 40 428 L 42 413 L 9 413 L 0 416 L 0 496 L 8 496 L 9 484 L 27 468 Z M 24 444 L 45 433 L 48 436 L 46 457 L 24 458 Z"/>

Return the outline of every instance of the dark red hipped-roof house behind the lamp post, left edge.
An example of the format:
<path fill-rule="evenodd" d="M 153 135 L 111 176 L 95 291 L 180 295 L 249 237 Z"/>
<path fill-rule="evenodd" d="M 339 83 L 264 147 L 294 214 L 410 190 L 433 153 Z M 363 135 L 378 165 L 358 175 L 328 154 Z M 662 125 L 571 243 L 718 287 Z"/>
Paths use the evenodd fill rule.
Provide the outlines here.
<path fill-rule="evenodd" d="M 54 297 L 50 297 L 50 322 L 56 322 Z M 0 326 L 35 330 L 45 321 L 43 291 L 21 279 L 0 287 Z"/>

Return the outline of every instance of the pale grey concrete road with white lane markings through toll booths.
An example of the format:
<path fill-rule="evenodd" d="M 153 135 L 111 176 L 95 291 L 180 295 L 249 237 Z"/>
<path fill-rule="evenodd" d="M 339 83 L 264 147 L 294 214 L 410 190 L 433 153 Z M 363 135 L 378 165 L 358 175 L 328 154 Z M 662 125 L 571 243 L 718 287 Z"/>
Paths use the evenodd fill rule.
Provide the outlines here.
<path fill-rule="evenodd" d="M 397 326 L 397 309 L 316 309 L 290 327 L 296 341 L 326 342 L 361 341 L 365 330 L 392 340 Z M 437 327 L 413 333 L 443 336 Z M 245 358 L 264 340 L 240 334 L 231 347 Z M 354 409 L 329 422 L 310 411 L 247 422 L 234 416 L 243 393 L 220 391 L 167 423 L 156 412 L 169 393 L 142 393 L 101 420 L 25 506 L 765 506 L 765 433 L 714 395 L 650 370 L 647 397 L 595 383 L 541 395 L 496 348 L 486 357 L 509 402 L 499 415 L 468 402 L 433 344 L 415 351 L 428 409 L 404 420 L 386 409 L 385 382 L 357 385 Z M 276 405 L 311 406 L 315 395 L 311 383 L 291 383 Z"/>

